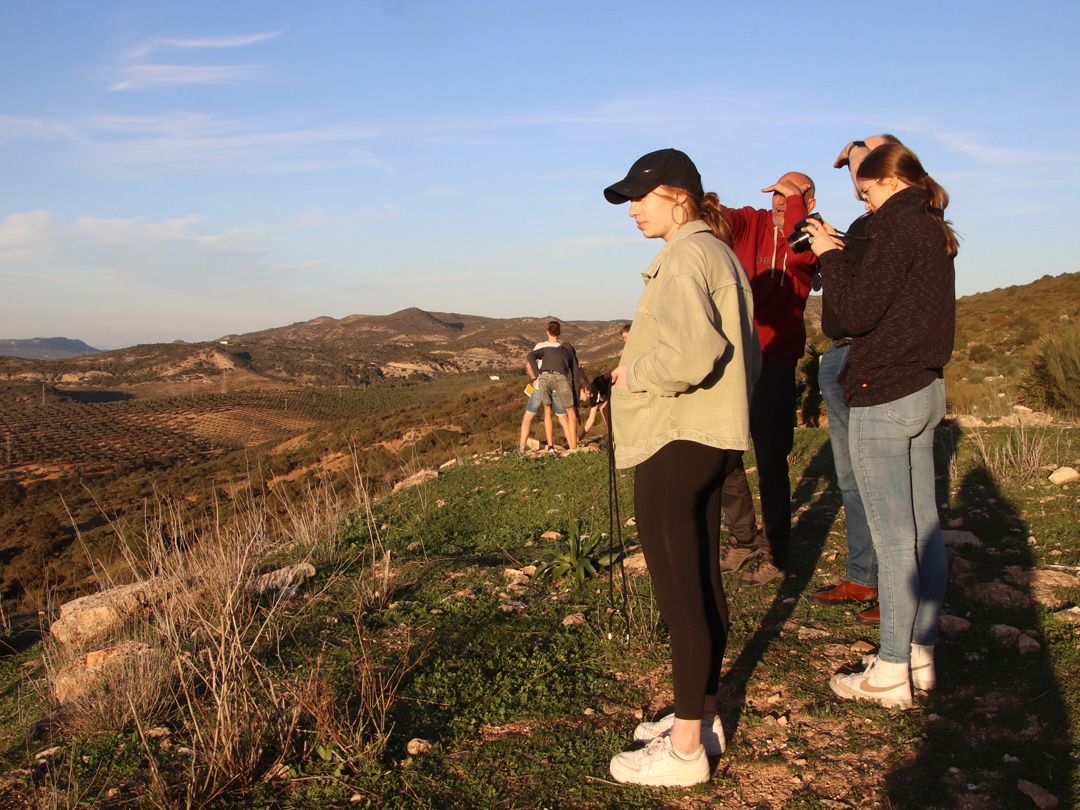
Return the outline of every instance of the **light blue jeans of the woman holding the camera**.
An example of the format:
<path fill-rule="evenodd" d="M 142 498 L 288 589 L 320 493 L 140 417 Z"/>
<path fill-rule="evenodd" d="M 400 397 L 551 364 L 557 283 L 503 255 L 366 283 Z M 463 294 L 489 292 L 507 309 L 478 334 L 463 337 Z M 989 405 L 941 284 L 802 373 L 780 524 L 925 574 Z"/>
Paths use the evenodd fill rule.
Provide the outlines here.
<path fill-rule="evenodd" d="M 934 428 L 945 381 L 893 402 L 851 408 L 848 441 L 878 556 L 879 656 L 908 663 L 912 643 L 932 645 L 948 558 L 934 498 Z"/>

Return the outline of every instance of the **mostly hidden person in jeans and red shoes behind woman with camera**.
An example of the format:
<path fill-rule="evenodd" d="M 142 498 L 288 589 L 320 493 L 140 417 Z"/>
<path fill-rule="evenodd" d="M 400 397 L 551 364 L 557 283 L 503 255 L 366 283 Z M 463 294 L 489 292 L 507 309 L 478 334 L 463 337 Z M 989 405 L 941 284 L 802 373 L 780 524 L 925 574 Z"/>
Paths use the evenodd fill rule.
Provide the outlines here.
<path fill-rule="evenodd" d="M 855 199 L 862 200 L 859 191 L 859 179 L 855 173 L 863 159 L 881 144 L 899 144 L 893 135 L 873 135 L 865 140 L 852 140 L 840 151 L 836 168 L 845 166 L 851 173 L 851 183 L 855 189 Z M 866 256 L 869 241 L 866 239 L 866 226 L 874 212 L 867 211 L 848 226 L 848 239 L 845 249 L 856 260 Z M 877 599 L 877 557 L 874 555 L 874 540 L 870 527 L 866 522 L 866 508 L 859 495 L 859 482 L 851 465 L 851 451 L 848 447 L 848 422 L 850 411 L 843 402 L 843 387 L 839 376 L 847 365 L 851 351 L 851 333 L 845 329 L 833 312 L 832 298 L 822 296 L 821 330 L 832 338 L 829 348 L 821 355 L 818 364 L 818 387 L 825 400 L 828 414 L 828 438 L 833 448 L 833 464 L 836 469 L 836 483 L 843 498 L 843 523 L 848 541 L 846 573 L 838 585 L 822 589 L 811 594 L 810 602 L 815 605 L 850 605 Z M 880 621 L 880 609 L 877 606 L 863 610 L 856 621 L 860 624 L 877 624 Z"/>

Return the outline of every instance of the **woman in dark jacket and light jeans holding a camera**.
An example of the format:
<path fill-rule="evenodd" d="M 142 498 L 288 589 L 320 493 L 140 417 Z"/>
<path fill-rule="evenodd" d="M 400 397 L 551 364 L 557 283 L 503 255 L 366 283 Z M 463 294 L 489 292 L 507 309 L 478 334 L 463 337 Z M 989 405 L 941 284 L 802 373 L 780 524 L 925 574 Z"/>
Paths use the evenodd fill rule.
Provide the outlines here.
<path fill-rule="evenodd" d="M 859 166 L 874 212 L 858 259 L 827 222 L 806 228 L 825 296 L 852 335 L 839 376 L 851 408 L 849 447 L 878 557 L 881 647 L 865 671 L 834 675 L 841 698 L 912 705 L 930 689 L 947 558 L 934 497 L 934 428 L 945 415 L 953 354 L 956 234 L 948 194 L 907 147 L 885 144 Z"/>

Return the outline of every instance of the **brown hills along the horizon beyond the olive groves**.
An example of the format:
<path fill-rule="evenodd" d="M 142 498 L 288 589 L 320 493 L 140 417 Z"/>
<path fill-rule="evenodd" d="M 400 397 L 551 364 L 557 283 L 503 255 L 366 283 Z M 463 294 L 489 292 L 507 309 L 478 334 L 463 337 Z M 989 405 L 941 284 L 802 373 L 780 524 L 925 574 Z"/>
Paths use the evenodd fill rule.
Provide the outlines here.
<path fill-rule="evenodd" d="M 225 335 L 203 343 L 151 343 L 83 354 L 0 351 L 0 381 L 67 387 L 127 388 L 198 384 L 228 376 L 229 390 L 280 384 L 350 386 L 377 379 L 447 374 L 524 373 L 525 353 L 544 339 L 551 318 L 496 319 L 409 308 L 389 315 L 316 318 L 262 332 Z M 622 350 L 624 321 L 562 321 L 563 338 L 583 363 Z M 94 352 L 89 355 L 85 352 Z M 35 362 L 48 360 L 46 363 Z"/>

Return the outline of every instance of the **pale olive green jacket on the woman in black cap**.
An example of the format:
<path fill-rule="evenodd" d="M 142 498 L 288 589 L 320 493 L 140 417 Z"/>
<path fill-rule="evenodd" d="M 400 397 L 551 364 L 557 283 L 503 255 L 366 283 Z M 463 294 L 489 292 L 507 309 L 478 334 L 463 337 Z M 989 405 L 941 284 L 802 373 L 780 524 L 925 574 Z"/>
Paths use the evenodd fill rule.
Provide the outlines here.
<path fill-rule="evenodd" d="M 739 259 L 697 220 L 676 231 L 643 276 L 620 361 L 627 388 L 611 390 L 616 465 L 639 464 L 676 440 L 748 449 L 761 349 Z"/>

